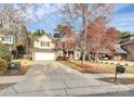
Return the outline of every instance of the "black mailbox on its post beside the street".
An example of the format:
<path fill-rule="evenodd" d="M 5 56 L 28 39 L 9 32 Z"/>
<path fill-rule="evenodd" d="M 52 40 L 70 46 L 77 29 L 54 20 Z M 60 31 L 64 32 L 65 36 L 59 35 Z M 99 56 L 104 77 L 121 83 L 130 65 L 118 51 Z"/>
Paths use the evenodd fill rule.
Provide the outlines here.
<path fill-rule="evenodd" d="M 125 67 L 123 65 L 120 64 L 116 65 L 115 84 L 117 84 L 118 74 L 123 74 L 124 72 L 125 72 Z"/>

